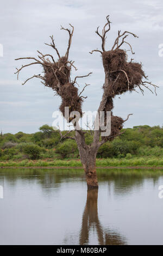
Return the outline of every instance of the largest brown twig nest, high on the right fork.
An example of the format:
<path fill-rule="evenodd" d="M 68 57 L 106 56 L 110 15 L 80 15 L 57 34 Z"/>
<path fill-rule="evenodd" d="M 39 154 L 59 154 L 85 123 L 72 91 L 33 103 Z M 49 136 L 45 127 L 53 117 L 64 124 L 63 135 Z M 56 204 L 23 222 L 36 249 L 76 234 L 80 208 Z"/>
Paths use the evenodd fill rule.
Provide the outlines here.
<path fill-rule="evenodd" d="M 107 96 L 114 97 L 140 86 L 145 73 L 140 63 L 127 62 L 124 50 L 103 52 L 104 69 L 109 72 L 109 87 L 104 88 Z"/>

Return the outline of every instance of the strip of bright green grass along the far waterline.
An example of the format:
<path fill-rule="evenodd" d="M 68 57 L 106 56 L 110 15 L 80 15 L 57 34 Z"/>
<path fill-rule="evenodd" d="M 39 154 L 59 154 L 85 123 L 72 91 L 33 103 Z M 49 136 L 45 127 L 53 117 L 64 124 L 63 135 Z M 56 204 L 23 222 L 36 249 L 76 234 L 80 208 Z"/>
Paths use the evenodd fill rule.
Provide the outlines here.
<path fill-rule="evenodd" d="M 82 167 L 79 160 L 23 160 L 23 161 L 3 161 L 0 167 Z M 163 157 L 133 157 L 131 159 L 96 159 L 97 167 L 163 167 Z"/>

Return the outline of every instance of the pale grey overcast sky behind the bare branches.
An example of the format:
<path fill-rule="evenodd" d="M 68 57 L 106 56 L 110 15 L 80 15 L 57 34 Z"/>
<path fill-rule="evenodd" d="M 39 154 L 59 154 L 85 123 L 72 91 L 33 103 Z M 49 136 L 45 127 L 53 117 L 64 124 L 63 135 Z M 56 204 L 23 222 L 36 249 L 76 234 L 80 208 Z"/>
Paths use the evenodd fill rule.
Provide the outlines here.
<path fill-rule="evenodd" d="M 136 125 L 163 125 L 163 2 L 160 1 L 110 1 L 110 0 L 5 0 L 0 9 L 0 44 L 3 45 L 3 57 L 0 57 L 0 130 L 3 133 L 23 131 L 33 133 L 43 124 L 52 125 L 52 114 L 59 110 L 60 98 L 54 96 L 51 88 L 44 87 L 37 78 L 22 82 L 34 74 L 40 74 L 42 68 L 32 65 L 20 73 L 20 80 L 14 74 L 15 68 L 29 63 L 28 60 L 17 60 L 20 57 L 37 57 L 37 50 L 57 56 L 51 47 L 49 35 L 54 35 L 59 52 L 65 54 L 68 33 L 60 26 L 74 26 L 74 35 L 70 50 L 70 59 L 74 60 L 80 78 L 79 91 L 85 83 L 90 86 L 84 91 L 87 99 L 83 111 L 96 111 L 102 98 L 104 69 L 101 54 L 90 51 L 101 50 L 101 40 L 95 33 L 106 22 L 110 15 L 111 30 L 106 39 L 105 48 L 110 50 L 117 36 L 117 31 L 130 31 L 139 38 L 128 36 L 134 55 L 128 52 L 128 58 L 142 62 L 143 70 L 149 81 L 159 85 L 157 96 L 148 90 L 141 93 L 126 93 L 114 100 L 114 115 L 126 119 L 133 113 L 124 127 Z M 162 45 L 161 45 L 162 44 Z M 159 48 L 160 47 L 160 48 Z M 129 50 L 128 46 L 124 46 Z M 2 53 L 2 52 L 1 52 Z M 2 55 L 2 54 L 0 54 Z"/>

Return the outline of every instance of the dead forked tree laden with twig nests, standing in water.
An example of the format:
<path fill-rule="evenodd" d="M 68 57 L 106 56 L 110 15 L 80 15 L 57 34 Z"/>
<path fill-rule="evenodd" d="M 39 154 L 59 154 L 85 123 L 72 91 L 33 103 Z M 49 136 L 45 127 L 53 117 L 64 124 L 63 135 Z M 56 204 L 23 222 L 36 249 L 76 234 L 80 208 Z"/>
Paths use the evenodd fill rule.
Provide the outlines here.
<path fill-rule="evenodd" d="M 98 114 L 101 111 L 103 111 L 105 114 L 107 111 L 110 111 L 111 133 L 109 136 L 101 137 L 102 130 L 101 127 L 99 127 L 99 129 L 93 131 L 93 142 L 90 145 L 87 145 L 85 143 L 85 132 L 83 130 L 77 129 L 77 127 L 79 127 L 78 122 L 74 122 L 75 115 L 74 117 L 68 117 L 68 119 L 66 118 L 68 122 L 73 123 L 74 130 L 76 131 L 75 136 L 71 137 L 70 132 L 62 136 L 61 131 L 59 131 L 61 139 L 71 138 L 76 140 L 79 149 L 80 160 L 83 164 L 87 178 L 88 188 L 98 187 L 96 175 L 96 155 L 99 147 L 105 142 L 112 141 L 112 139 L 122 134 L 120 131 L 122 130 L 123 123 L 124 121 L 128 120 L 130 115 L 128 115 L 126 120 L 123 120 L 121 117 L 117 117 L 112 114 L 112 108 L 114 107 L 114 97 L 127 91 L 131 92 L 132 90 L 135 90 L 136 87 L 140 89 L 142 94 L 144 93 L 143 88 L 151 90 L 149 86 L 152 86 L 155 91 L 157 87 L 155 84 L 152 84 L 147 80 L 148 78 L 145 76 L 145 73 L 142 70 L 142 64 L 133 62 L 133 59 L 128 62 L 126 51 L 120 48 L 124 44 L 127 44 L 131 53 L 134 54 L 131 45 L 126 41 L 128 35 L 132 35 L 137 38 L 138 36 L 136 36 L 134 33 L 125 31 L 121 34 L 121 31 L 118 31 L 117 38 L 115 39 L 111 50 L 105 50 L 106 34 L 110 31 L 110 23 L 111 22 L 109 20 L 109 16 L 107 16 L 106 23 L 102 29 L 102 34 L 99 33 L 99 27 L 96 30 L 96 34 L 102 40 L 102 50 L 100 51 L 96 49 L 92 50 L 90 53 L 92 54 L 93 52 L 99 52 L 102 56 L 105 80 L 102 100 L 97 111 L 97 119 L 99 119 Z M 61 97 L 61 105 L 59 109 L 64 117 L 65 107 L 68 107 L 70 112 L 76 111 L 80 113 L 80 117 L 82 117 L 82 102 L 85 98 L 82 96 L 82 93 L 84 92 L 87 84 L 85 84 L 82 92 L 79 93 L 77 88 L 77 78 L 90 76 L 91 72 L 84 76 L 76 76 L 73 81 L 71 80 L 71 69 L 74 68 L 77 70 L 77 68 L 74 66 L 74 62 L 68 59 L 74 32 L 74 27 L 71 24 L 70 27 L 71 29 L 61 26 L 61 29 L 67 31 L 69 36 L 68 47 L 65 56 L 60 56 L 52 35 L 50 36 L 51 44 L 46 45 L 51 46 L 55 50 L 58 59 L 54 60 L 54 57 L 51 54 L 43 54 L 40 51 L 37 51 L 39 53 L 37 58 L 25 57 L 16 59 L 29 59 L 32 60 L 32 63 L 22 65 L 20 69 L 16 69 L 15 74 L 17 74 L 18 79 L 18 75 L 23 68 L 34 64 L 40 64 L 43 68 L 44 75 L 33 75 L 32 77 L 29 77 L 23 84 L 32 78 L 40 78 L 44 86 L 52 88 L 55 91 L 55 94 Z M 144 81 L 143 78 L 145 78 Z M 108 125 L 107 119 L 105 118 L 104 120 L 105 126 Z"/>

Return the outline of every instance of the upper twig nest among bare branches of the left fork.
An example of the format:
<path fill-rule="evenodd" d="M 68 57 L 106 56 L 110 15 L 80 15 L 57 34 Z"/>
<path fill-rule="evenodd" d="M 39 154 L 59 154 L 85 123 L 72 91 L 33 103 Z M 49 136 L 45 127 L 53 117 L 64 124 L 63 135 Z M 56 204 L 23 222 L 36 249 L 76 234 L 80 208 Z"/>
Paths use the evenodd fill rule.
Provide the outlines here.
<path fill-rule="evenodd" d="M 50 66 L 44 66 L 45 84 L 51 87 L 53 90 L 57 89 L 58 80 L 61 86 L 63 86 L 65 83 L 68 83 L 69 81 L 71 67 L 68 66 L 66 62 L 67 62 L 66 57 L 61 57 L 58 60 L 58 62 L 55 62 L 55 63 L 45 62 L 45 64 L 50 65 Z M 63 67 L 61 68 L 61 66 Z M 60 68 L 61 70 L 59 70 Z M 55 77 L 53 70 L 58 80 Z"/>

